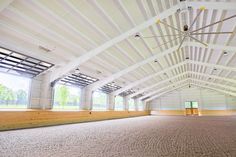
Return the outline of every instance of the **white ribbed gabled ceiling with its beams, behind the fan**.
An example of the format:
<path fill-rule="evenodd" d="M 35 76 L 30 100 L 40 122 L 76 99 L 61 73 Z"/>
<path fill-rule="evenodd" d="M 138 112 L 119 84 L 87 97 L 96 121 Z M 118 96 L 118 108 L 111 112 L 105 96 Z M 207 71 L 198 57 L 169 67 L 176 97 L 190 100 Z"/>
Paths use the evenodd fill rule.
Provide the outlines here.
<path fill-rule="evenodd" d="M 134 38 L 136 32 L 177 34 L 155 23 L 157 18 L 182 30 L 185 23 L 193 22 L 200 6 L 206 10 L 193 30 L 236 15 L 235 0 L 188 0 L 186 4 L 193 9 L 177 13 L 179 0 L 1 0 L 0 45 L 55 64 L 52 81 L 78 67 L 100 79 L 89 85 L 92 89 L 112 81 L 122 87 L 113 94 L 133 89 L 132 96 L 154 93 L 150 95 L 154 97 L 186 80 L 236 96 L 236 18 L 199 31 L 234 32 L 195 36 L 208 47 L 191 39 L 176 51 L 179 38 L 153 49 L 174 37 Z M 224 50 L 228 55 L 223 55 Z"/>

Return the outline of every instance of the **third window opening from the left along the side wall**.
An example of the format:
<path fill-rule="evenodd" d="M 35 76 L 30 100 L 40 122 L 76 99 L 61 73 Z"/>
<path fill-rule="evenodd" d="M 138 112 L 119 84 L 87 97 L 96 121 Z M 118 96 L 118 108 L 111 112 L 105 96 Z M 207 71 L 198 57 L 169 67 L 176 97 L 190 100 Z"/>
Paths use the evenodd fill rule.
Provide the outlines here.
<path fill-rule="evenodd" d="M 107 94 L 102 92 L 93 93 L 93 110 L 107 109 Z"/>

